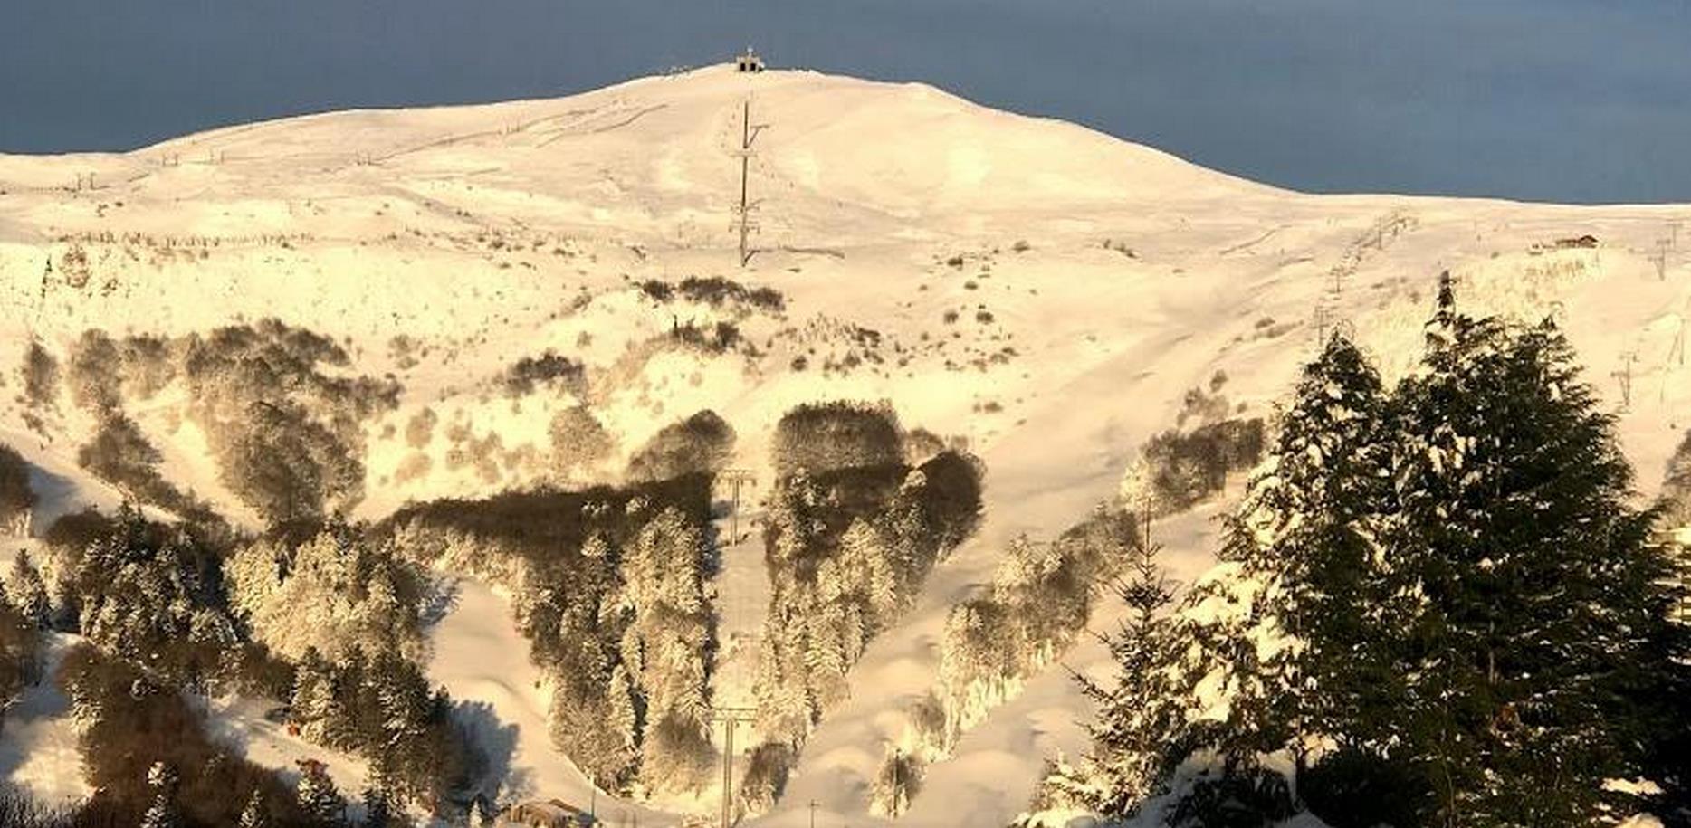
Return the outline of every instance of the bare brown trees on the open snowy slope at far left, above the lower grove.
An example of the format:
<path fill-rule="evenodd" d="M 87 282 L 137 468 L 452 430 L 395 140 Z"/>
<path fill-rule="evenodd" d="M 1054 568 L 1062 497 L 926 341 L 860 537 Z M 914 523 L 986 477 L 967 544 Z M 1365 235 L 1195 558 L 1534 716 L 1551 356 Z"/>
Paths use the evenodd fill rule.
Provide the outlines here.
<path fill-rule="evenodd" d="M 174 340 L 90 330 L 69 363 L 71 399 L 101 421 L 85 466 L 164 509 L 193 510 L 193 498 L 152 470 L 156 451 L 123 414 L 125 399 L 181 380 L 220 480 L 269 524 L 318 519 L 364 497 L 362 424 L 399 392 L 392 380 L 345 377 L 340 345 L 277 319 Z"/>

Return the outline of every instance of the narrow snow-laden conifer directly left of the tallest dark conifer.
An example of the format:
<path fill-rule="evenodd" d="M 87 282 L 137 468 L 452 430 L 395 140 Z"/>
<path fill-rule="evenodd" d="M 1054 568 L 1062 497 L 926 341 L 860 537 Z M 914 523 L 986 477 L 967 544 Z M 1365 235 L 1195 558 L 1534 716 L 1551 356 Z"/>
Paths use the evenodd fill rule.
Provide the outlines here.
<path fill-rule="evenodd" d="M 1221 558 L 1258 585 L 1248 634 L 1258 647 L 1234 651 L 1228 666 L 1234 762 L 1289 747 L 1300 769 L 1319 737 L 1376 735 L 1363 710 L 1390 673 L 1385 630 L 1370 615 L 1387 602 L 1375 556 L 1390 493 L 1387 416 L 1378 373 L 1333 335 L 1228 519 Z"/>

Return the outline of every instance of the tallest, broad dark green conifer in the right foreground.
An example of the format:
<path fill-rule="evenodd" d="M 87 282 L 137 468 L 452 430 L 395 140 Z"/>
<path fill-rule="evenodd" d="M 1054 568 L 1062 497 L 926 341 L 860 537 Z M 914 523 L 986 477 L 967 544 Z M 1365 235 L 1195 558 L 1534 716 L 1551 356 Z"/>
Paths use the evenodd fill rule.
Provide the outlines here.
<path fill-rule="evenodd" d="M 1603 820 L 1603 781 L 1649 727 L 1625 700 L 1669 600 L 1612 417 L 1551 323 L 1469 319 L 1447 282 L 1400 397 L 1392 735 L 1442 823 Z"/>

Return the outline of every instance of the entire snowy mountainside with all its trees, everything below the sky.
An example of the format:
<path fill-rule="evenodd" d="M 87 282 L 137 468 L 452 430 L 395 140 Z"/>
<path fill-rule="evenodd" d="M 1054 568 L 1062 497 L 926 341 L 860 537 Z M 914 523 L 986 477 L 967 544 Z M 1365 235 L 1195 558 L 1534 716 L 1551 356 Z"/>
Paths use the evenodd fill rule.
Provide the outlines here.
<path fill-rule="evenodd" d="M 1688 216 L 727 68 L 0 155 L 0 823 L 1688 825 Z"/>

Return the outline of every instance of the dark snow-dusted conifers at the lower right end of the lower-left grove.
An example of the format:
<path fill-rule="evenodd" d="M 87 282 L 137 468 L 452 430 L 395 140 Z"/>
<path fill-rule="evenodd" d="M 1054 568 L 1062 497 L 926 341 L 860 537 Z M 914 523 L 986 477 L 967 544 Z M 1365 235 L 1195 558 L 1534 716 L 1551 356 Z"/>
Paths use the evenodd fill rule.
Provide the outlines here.
<path fill-rule="evenodd" d="M 294 669 L 291 720 L 301 735 L 370 764 L 370 798 L 440 809 L 472 776 L 477 757 L 451 718 L 445 689 L 431 689 L 396 649 L 369 656 L 353 644 L 330 661 L 306 649 Z"/>

